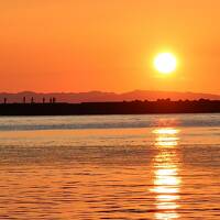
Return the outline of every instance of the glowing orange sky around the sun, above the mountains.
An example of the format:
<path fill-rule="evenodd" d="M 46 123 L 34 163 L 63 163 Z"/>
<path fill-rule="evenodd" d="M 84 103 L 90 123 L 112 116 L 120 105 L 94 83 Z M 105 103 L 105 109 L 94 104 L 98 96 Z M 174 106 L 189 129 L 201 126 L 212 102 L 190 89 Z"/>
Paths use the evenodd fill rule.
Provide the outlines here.
<path fill-rule="evenodd" d="M 219 0 L 7 0 L 0 2 L 1 91 L 220 94 Z M 178 70 L 160 77 L 169 50 Z"/>

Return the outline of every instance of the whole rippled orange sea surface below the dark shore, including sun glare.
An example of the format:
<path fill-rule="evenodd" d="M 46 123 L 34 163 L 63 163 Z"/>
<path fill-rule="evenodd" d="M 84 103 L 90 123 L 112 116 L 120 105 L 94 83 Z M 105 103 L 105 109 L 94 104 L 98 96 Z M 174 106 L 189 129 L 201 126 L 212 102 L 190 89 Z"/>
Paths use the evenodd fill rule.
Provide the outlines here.
<path fill-rule="evenodd" d="M 220 219 L 220 114 L 0 118 L 0 219 Z"/>

